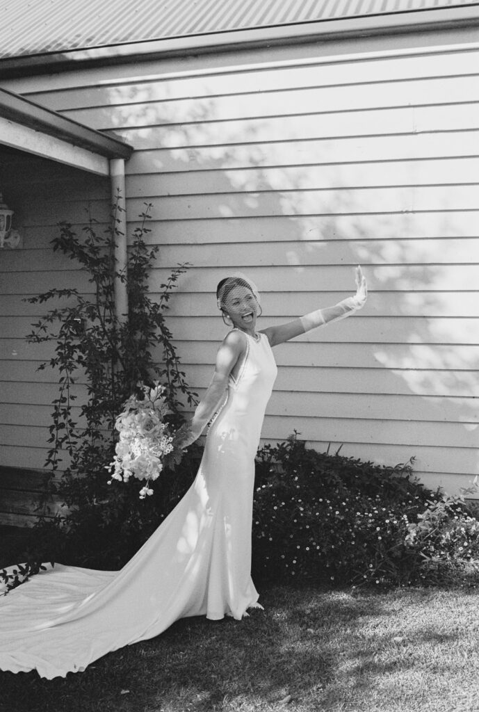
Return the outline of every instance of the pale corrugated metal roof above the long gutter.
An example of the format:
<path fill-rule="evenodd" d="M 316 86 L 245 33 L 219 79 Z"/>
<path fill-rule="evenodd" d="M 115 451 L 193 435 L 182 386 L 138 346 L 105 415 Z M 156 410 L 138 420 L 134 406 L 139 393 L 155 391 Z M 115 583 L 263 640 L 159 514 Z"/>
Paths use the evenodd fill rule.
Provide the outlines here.
<path fill-rule="evenodd" d="M 0 0 L 0 58 L 478 4 L 468 0 Z"/>

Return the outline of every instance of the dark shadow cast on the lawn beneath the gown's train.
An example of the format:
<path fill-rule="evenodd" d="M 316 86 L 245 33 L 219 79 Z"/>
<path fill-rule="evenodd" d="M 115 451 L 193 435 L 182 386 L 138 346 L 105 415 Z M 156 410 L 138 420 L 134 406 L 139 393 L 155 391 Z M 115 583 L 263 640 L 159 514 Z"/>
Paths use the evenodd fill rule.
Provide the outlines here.
<path fill-rule="evenodd" d="M 339 621 L 354 627 L 381 598 L 268 587 L 265 610 L 238 622 L 182 619 L 157 638 L 112 652 L 83 673 L 47 681 L 0 674 L 9 712 L 273 710 L 315 696 L 335 675 Z M 320 709 L 320 708 L 318 708 Z"/>

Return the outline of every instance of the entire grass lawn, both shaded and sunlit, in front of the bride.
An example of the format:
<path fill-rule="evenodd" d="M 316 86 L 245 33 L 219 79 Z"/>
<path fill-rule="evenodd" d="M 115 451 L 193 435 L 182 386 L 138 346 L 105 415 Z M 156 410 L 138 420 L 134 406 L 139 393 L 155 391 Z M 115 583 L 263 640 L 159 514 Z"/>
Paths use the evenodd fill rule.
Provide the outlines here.
<path fill-rule="evenodd" d="M 263 587 L 242 622 L 184 619 L 66 679 L 0 673 L 0 710 L 477 712 L 478 595 Z"/>

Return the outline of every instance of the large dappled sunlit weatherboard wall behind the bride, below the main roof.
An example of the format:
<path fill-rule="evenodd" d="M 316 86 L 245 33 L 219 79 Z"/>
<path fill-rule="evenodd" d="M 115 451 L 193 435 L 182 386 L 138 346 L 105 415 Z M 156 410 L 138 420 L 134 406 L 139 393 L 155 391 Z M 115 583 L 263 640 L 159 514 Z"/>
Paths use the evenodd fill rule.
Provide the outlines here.
<path fill-rule="evenodd" d="M 346 297 L 362 264 L 366 308 L 276 350 L 263 436 L 297 430 L 320 451 L 389 465 L 414 456 L 428 486 L 456 492 L 479 473 L 478 68 L 477 33 L 438 31 L 6 88 L 135 147 L 130 234 L 151 202 L 153 293 L 191 263 L 169 326 L 200 394 L 226 333 L 219 279 L 253 278 L 266 326 Z M 27 325 L 9 328 L 20 338 Z M 16 425 L 21 452 L 31 428 Z"/>

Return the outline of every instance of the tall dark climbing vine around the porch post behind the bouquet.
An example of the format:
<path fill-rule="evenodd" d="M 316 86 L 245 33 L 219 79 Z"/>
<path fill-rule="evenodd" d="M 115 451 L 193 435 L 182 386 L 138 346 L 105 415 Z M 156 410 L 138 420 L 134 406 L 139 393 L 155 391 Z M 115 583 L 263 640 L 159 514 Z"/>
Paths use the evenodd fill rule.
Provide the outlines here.
<path fill-rule="evenodd" d="M 123 210 L 118 195 L 105 231 L 99 234 L 98 222 L 91 217 L 80 236 L 62 222 L 52 241 L 54 251 L 80 263 L 88 273 L 91 294 L 54 288 L 28 299 L 60 300 L 60 306 L 33 324 L 28 335 L 30 342 L 55 345 L 50 362 L 40 368 L 51 367 L 59 383 L 50 426 L 46 496 L 38 509 L 35 555 L 29 554 L 33 562 L 57 560 L 116 569 L 159 525 L 196 472 L 199 449 L 192 447 L 181 464 L 177 453 L 167 456 L 162 486 L 148 501 L 139 501 L 138 482 L 107 483 L 117 441 L 115 419 L 132 394 L 140 395 L 142 387 L 155 382 L 164 385 L 172 431 L 183 422 L 181 399 L 192 404 L 196 395 L 186 384 L 165 320 L 169 299 L 187 266 L 175 268 L 157 289 L 159 298 L 152 299 L 148 278 L 159 248 L 145 242 L 151 204 L 145 205 L 128 251 L 127 276 L 115 261 Z M 115 313 L 119 281 L 127 284 L 127 320 Z M 65 507 L 52 518 L 54 501 Z"/>

